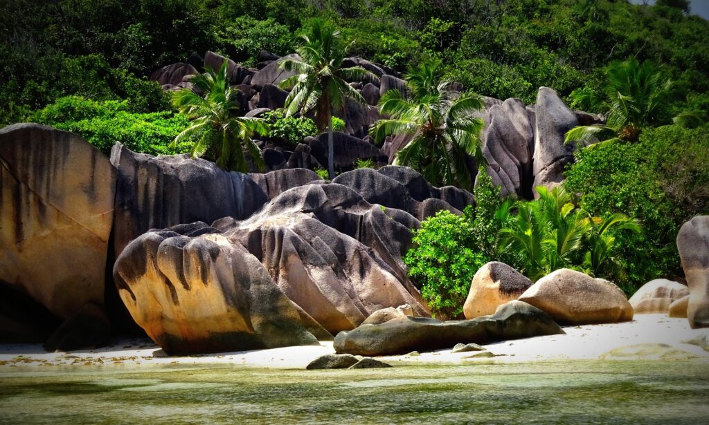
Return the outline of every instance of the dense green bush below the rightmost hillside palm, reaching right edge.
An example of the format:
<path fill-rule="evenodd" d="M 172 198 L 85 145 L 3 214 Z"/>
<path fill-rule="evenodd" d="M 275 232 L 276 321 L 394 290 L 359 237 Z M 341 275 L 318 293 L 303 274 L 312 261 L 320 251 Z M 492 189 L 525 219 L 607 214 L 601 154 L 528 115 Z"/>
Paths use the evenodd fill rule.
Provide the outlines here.
<path fill-rule="evenodd" d="M 647 129 L 640 143 L 582 149 L 566 170 L 564 186 L 596 216 L 622 213 L 642 222 L 642 234 L 618 239 L 617 256 L 633 286 L 681 275 L 679 226 L 709 211 L 709 135 L 703 129 Z"/>

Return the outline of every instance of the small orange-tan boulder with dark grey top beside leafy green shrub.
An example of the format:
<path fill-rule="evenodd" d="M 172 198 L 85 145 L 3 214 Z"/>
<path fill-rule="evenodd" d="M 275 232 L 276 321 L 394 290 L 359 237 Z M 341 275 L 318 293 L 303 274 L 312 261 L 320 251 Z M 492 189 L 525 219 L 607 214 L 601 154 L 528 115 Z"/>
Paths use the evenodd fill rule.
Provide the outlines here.
<path fill-rule="evenodd" d="M 475 273 L 463 305 L 466 319 L 491 315 L 532 286 L 526 276 L 503 262 L 489 262 Z"/>

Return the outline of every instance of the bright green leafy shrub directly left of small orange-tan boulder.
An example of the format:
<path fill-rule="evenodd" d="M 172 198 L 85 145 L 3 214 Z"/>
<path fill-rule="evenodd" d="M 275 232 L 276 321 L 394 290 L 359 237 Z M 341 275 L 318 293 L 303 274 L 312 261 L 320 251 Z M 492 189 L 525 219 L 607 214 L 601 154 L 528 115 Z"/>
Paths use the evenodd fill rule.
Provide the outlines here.
<path fill-rule="evenodd" d="M 421 296 L 432 313 L 442 318 L 462 313 L 475 272 L 489 260 L 475 248 L 467 216 L 447 210 L 421 222 L 413 248 L 404 257 L 408 275 L 420 284 Z"/>

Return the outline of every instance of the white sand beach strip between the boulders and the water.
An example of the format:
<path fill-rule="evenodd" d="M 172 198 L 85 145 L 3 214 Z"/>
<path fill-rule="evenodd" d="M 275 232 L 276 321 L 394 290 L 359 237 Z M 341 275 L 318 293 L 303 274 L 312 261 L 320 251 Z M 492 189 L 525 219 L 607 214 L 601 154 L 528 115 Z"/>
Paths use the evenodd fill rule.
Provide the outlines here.
<path fill-rule="evenodd" d="M 514 339 L 484 344 L 495 356 L 467 359 L 474 352 L 442 349 L 420 354 L 380 356 L 399 365 L 464 365 L 474 362 L 521 363 L 563 360 L 699 360 L 709 363 L 709 351 L 686 341 L 709 339 L 709 330 L 689 327 L 686 319 L 666 315 L 636 315 L 632 322 L 564 327 L 566 334 Z M 642 344 L 642 345 L 639 345 Z M 659 345 L 664 344 L 664 345 Z M 637 346 L 627 348 L 629 346 Z M 624 348 L 625 347 L 625 348 Z M 452 348 L 452 347 L 451 347 Z M 620 354 L 619 351 L 620 350 Z M 616 350 L 616 355 L 608 355 Z M 333 342 L 318 346 L 281 347 L 231 353 L 167 356 L 150 339 L 118 339 L 107 347 L 48 353 L 41 344 L 0 344 L 0 372 L 19 366 L 169 366 L 231 365 L 257 368 L 305 368 L 324 354 L 333 354 Z"/>

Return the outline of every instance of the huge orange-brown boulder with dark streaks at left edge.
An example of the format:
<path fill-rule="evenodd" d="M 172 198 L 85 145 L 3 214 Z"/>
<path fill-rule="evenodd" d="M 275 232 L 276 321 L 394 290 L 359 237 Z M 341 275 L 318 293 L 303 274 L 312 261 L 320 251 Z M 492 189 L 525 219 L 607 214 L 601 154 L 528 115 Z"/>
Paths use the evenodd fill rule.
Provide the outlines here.
<path fill-rule="evenodd" d="M 65 320 L 104 305 L 116 170 L 81 137 L 0 129 L 0 280 Z"/>

